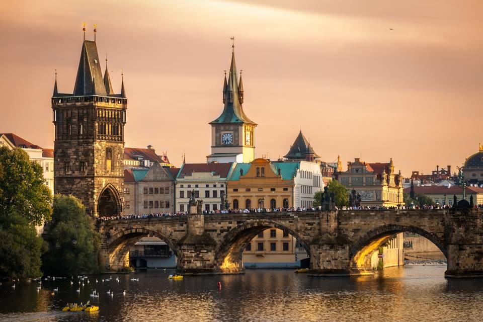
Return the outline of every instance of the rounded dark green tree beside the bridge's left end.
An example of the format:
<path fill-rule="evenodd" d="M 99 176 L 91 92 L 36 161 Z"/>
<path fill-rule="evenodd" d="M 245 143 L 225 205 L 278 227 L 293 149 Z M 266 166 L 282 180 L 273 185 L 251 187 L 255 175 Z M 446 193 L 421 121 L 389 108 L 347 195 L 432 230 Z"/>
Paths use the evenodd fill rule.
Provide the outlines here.
<path fill-rule="evenodd" d="M 42 258 L 44 273 L 75 276 L 98 272 L 100 236 L 84 205 L 72 195 L 55 195 L 53 208 L 45 233 L 49 250 Z"/>

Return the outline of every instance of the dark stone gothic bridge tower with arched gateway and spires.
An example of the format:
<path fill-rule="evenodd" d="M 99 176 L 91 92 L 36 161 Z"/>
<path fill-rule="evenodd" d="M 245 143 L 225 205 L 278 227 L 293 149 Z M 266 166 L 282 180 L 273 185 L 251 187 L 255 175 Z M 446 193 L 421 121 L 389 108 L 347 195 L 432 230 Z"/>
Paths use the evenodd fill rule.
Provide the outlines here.
<path fill-rule="evenodd" d="M 84 36 L 72 94 L 58 93 L 56 74 L 52 122 L 54 192 L 81 199 L 88 214 L 122 213 L 126 109 L 124 81 L 114 94 L 107 58 L 103 77 L 96 38 Z"/>

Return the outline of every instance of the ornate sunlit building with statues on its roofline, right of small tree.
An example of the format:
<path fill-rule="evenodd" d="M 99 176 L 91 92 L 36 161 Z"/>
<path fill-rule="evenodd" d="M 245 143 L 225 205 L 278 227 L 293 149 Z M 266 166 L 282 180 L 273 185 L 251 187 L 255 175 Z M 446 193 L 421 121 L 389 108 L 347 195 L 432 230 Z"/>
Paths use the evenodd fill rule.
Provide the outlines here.
<path fill-rule="evenodd" d="M 347 164 L 347 171 L 338 181 L 348 192 L 360 195 L 361 206 L 397 207 L 403 205 L 403 177 L 394 174 L 392 158 L 389 163 L 365 163 L 357 157 Z"/>

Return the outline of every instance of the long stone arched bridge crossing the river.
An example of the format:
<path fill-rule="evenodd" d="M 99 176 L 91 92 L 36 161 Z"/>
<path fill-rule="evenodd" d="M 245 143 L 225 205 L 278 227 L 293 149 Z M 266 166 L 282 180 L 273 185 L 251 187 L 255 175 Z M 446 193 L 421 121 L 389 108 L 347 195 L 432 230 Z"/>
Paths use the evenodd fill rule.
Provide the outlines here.
<path fill-rule="evenodd" d="M 259 232 L 292 234 L 310 257 L 309 274 L 371 274 L 372 253 L 394 234 L 418 233 L 446 256 L 446 277 L 483 277 L 483 211 L 347 210 L 192 214 L 100 223 L 101 261 L 107 271 L 129 265 L 141 237 L 164 240 L 183 274 L 243 273 L 242 252 Z"/>

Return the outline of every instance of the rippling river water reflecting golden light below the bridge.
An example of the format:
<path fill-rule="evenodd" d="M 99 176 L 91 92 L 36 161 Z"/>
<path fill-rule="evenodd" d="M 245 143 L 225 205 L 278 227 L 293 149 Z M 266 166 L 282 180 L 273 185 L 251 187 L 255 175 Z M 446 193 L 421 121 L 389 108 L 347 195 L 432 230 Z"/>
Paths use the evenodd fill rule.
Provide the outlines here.
<path fill-rule="evenodd" d="M 158 269 L 113 274 L 109 282 L 101 280 L 109 275 L 91 276 L 80 293 L 77 279 L 72 286 L 65 279 L 42 280 L 39 293 L 37 282 L 17 283 L 15 289 L 3 282 L 0 321 L 482 321 L 483 279 L 445 279 L 445 270 L 406 266 L 336 278 L 248 270 L 173 281 L 167 279 L 172 271 Z M 86 302 L 93 289 L 100 294 L 92 300 L 99 312 L 60 311 L 66 302 Z"/>

